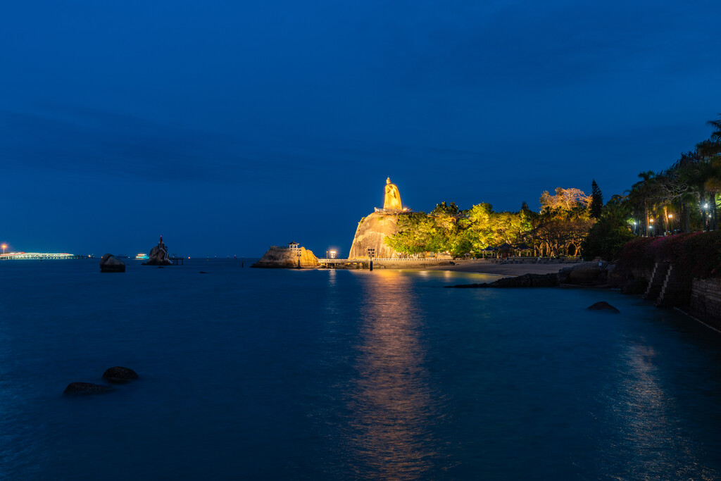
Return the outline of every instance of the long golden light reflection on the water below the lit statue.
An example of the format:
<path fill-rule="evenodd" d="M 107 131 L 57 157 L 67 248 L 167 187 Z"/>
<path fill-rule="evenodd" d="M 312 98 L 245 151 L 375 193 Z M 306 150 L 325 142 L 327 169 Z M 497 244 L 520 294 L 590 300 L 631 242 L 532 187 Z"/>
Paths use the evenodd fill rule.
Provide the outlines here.
<path fill-rule="evenodd" d="M 435 454 L 429 433 L 433 407 L 410 279 L 381 270 L 364 282 L 358 379 L 348 395 L 355 470 L 363 477 L 417 478 Z"/>

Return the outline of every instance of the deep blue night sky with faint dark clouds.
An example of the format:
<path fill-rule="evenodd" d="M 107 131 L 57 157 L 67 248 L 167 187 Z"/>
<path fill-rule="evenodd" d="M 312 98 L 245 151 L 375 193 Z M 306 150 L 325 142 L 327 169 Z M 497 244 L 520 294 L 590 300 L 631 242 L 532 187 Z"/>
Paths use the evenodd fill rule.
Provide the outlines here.
<path fill-rule="evenodd" d="M 404 204 L 606 199 L 707 138 L 718 1 L 0 6 L 0 240 L 26 252 L 348 253 Z"/>

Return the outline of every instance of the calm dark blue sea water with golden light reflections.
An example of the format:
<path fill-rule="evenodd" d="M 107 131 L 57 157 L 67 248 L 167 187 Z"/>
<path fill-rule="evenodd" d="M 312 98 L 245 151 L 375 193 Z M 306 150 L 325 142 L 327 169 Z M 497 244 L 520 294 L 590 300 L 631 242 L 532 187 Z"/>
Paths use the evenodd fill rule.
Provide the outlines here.
<path fill-rule="evenodd" d="M 721 335 L 676 312 L 247 266 L 0 262 L 0 477 L 721 477 Z M 141 379 L 63 396 L 116 365 Z"/>

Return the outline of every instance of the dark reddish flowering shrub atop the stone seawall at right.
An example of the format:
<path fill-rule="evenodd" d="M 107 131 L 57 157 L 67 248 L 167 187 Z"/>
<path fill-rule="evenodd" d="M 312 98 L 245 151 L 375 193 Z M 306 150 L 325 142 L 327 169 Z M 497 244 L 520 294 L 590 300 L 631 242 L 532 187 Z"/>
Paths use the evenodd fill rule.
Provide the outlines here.
<path fill-rule="evenodd" d="M 626 268 L 650 268 L 656 261 L 673 262 L 688 277 L 721 277 L 721 232 L 635 239 L 619 255 Z"/>

